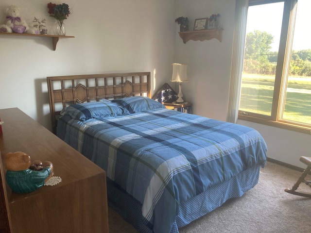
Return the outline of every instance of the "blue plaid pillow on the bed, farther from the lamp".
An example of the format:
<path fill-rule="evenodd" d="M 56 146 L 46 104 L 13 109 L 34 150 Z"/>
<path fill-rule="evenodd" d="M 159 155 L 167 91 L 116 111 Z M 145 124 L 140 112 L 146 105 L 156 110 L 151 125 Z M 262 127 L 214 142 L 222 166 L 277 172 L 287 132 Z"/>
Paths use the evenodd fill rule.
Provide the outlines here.
<path fill-rule="evenodd" d="M 129 112 L 117 103 L 109 100 L 86 102 L 70 105 L 62 115 L 69 115 L 77 120 L 87 120 L 96 116 L 121 116 Z"/>

